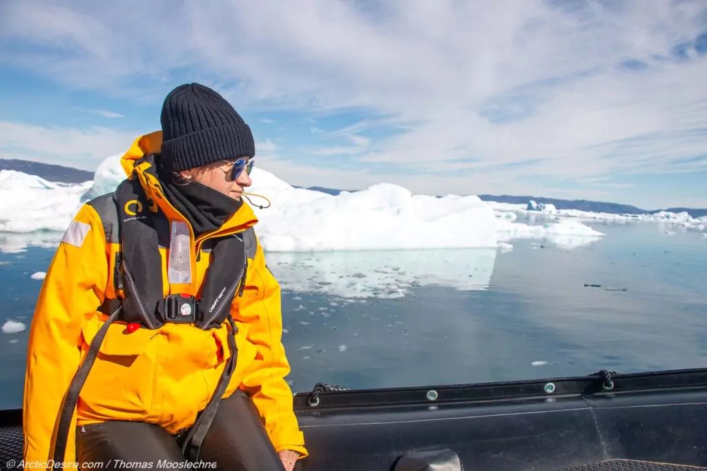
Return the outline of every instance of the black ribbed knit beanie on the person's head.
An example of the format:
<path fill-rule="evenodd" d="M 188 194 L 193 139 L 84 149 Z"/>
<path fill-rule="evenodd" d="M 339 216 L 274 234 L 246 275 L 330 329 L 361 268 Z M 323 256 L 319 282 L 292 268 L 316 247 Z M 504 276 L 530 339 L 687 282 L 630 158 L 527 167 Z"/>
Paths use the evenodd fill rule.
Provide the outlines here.
<path fill-rule="evenodd" d="M 172 90 L 160 121 L 162 160 L 173 172 L 255 155 L 250 127 L 221 95 L 199 83 Z"/>

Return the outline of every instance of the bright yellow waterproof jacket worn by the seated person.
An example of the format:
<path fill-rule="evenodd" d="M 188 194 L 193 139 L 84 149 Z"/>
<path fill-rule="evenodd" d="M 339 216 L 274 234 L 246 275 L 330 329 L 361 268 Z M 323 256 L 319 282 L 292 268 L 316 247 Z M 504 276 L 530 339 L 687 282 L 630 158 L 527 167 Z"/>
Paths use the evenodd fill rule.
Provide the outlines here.
<path fill-rule="evenodd" d="M 148 201 L 155 202 L 170 221 L 187 222 L 168 201 L 158 197 L 158 180 L 143 172 L 148 164 L 134 165 L 144 155 L 158 152 L 161 141 L 159 131 L 141 136 L 122 156 L 121 164 L 128 175 L 136 169 Z M 59 244 L 37 300 L 29 333 L 23 405 L 24 457 L 35 469 L 44 469 L 37 464 L 53 456 L 57 417 L 69 383 L 107 319 L 98 308 L 105 299 L 117 297 L 114 273 L 121 247 L 110 222 L 105 216 L 102 219 L 103 208 L 109 204 L 113 204 L 110 195 L 81 207 Z M 194 239 L 190 228 L 191 285 L 169 285 L 168 248 L 160 246 L 163 294 L 197 296 L 209 268 L 210 254 L 202 250 L 204 240 L 247 232 L 256 222 L 252 208 L 244 202 L 216 232 Z M 306 456 L 303 434 L 293 413 L 292 391 L 284 379 L 290 366 L 281 342 L 280 287 L 265 265 L 255 232 L 250 232 L 253 243 L 243 296 L 235 296 L 230 309 L 238 327 L 238 362 L 223 398 L 238 388 L 245 390 L 276 451 L 290 449 Z M 166 323 L 156 330 L 140 328 L 126 335 L 124 322 L 112 323 L 81 389 L 69 430 L 66 463 L 76 460 L 76 425 L 132 420 L 160 424 L 171 434 L 190 427 L 216 390 L 230 357 L 228 328 L 228 322 L 211 330 Z"/>

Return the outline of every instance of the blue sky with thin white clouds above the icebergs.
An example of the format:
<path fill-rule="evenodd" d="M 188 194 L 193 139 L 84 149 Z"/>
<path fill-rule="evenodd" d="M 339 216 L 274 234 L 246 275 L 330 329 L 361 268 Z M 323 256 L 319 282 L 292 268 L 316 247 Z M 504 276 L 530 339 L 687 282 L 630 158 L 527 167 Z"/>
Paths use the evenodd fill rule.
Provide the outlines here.
<path fill-rule="evenodd" d="M 0 157 L 95 169 L 210 85 L 291 184 L 707 207 L 702 0 L 0 4 Z"/>

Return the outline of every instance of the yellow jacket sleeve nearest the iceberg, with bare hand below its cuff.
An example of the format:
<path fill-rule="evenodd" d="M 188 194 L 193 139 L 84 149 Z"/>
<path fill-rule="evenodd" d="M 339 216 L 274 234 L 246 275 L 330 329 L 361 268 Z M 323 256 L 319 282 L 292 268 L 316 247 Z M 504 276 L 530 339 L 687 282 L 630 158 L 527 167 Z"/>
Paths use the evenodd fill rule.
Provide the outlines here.
<path fill-rule="evenodd" d="M 265 265 L 259 242 L 249 268 L 238 316 L 250 328 L 247 339 L 257 354 L 245 372 L 241 388 L 252 397 L 276 451 L 293 450 L 308 455 L 304 436 L 293 411 L 293 394 L 285 381 L 290 365 L 282 345 L 282 311 L 280 285 Z"/>

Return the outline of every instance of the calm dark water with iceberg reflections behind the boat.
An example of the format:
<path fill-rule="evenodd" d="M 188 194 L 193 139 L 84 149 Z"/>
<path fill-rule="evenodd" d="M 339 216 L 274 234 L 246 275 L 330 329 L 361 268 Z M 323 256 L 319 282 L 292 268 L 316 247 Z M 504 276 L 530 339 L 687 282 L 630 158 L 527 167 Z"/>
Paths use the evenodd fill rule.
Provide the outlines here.
<path fill-rule="evenodd" d="M 293 390 L 707 366 L 707 237 L 589 225 L 607 235 L 573 249 L 267 254 Z M 0 254 L 0 323 L 29 327 L 52 252 Z M 0 407 L 21 405 L 27 335 L 0 334 Z"/>

